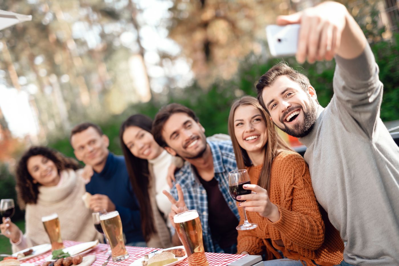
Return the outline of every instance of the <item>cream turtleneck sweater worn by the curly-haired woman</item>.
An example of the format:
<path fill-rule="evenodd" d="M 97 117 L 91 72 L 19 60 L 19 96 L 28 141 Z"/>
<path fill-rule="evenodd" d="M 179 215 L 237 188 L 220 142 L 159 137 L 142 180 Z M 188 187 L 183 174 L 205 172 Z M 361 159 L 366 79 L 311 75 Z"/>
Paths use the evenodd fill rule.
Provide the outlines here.
<path fill-rule="evenodd" d="M 13 252 L 49 243 L 41 217 L 52 213 L 58 214 L 62 240 L 87 242 L 102 238 L 94 228 L 92 211 L 83 203 L 82 195 L 86 189 L 78 172 L 71 169 L 62 171 L 57 186 L 39 187 L 37 203 L 26 205 L 26 233 L 19 243 L 12 243 Z"/>

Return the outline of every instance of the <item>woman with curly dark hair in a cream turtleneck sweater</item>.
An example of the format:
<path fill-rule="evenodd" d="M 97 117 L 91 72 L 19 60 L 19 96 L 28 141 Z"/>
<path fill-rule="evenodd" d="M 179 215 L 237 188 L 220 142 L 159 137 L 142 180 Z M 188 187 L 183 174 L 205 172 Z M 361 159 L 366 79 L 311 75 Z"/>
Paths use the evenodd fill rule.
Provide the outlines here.
<path fill-rule="evenodd" d="M 24 153 L 16 168 L 16 190 L 19 206 L 26 210 L 26 233 L 22 235 L 11 221 L 4 223 L 3 219 L 0 225 L 14 252 L 48 243 L 41 217 L 53 213 L 58 215 L 63 240 L 101 238 L 82 199 L 86 189 L 79 168 L 75 160 L 46 147 L 32 147 Z"/>

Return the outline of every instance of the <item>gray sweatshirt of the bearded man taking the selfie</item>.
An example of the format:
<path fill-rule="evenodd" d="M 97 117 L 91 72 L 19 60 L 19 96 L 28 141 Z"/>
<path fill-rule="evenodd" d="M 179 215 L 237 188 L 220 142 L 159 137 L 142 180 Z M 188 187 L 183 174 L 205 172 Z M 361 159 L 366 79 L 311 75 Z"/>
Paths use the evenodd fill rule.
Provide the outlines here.
<path fill-rule="evenodd" d="M 336 63 L 334 96 L 300 138 L 314 193 L 348 241 L 345 262 L 399 265 L 399 148 L 379 118 L 379 69 L 369 45 Z"/>

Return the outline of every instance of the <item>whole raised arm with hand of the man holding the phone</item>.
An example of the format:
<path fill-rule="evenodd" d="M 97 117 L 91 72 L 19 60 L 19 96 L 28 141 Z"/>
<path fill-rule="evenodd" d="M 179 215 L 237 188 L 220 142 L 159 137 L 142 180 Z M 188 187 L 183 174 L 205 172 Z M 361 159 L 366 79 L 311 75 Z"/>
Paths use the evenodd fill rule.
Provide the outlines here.
<path fill-rule="evenodd" d="M 323 2 L 288 16 L 280 25 L 300 23 L 298 62 L 336 59 L 332 108 L 347 130 L 372 138 L 379 118 L 383 85 L 367 39 L 345 6 Z"/>

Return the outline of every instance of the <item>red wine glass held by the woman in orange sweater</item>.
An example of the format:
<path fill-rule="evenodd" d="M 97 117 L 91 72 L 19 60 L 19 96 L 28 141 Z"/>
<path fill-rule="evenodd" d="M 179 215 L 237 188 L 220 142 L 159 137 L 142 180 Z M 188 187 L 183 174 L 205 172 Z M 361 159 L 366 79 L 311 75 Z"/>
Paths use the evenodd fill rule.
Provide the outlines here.
<path fill-rule="evenodd" d="M 237 199 L 237 196 L 251 194 L 251 190 L 244 189 L 243 185 L 251 184 L 251 179 L 249 179 L 249 175 L 247 170 L 235 170 L 229 172 L 229 190 L 230 195 L 238 202 L 244 202 L 243 200 Z M 247 213 L 245 213 L 244 208 L 244 223 L 242 225 L 237 226 L 235 229 L 237 230 L 251 230 L 258 225 L 256 223 L 249 223 L 247 220 Z"/>

